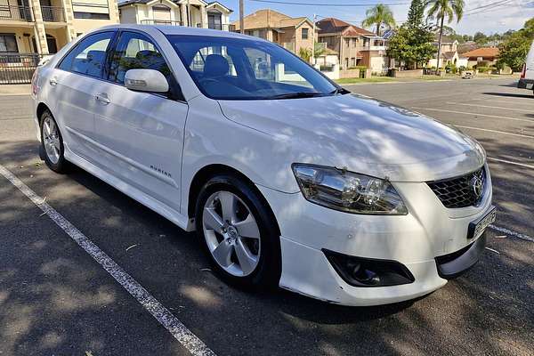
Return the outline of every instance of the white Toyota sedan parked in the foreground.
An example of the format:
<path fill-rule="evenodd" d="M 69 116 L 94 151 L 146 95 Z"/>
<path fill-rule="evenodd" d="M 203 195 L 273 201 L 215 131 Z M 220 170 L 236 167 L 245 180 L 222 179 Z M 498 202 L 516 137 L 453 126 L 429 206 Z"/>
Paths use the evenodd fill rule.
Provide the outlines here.
<path fill-rule="evenodd" d="M 240 287 L 416 298 L 472 267 L 495 219 L 480 144 L 260 38 L 100 28 L 39 67 L 32 93 L 47 166 L 197 231 Z"/>

